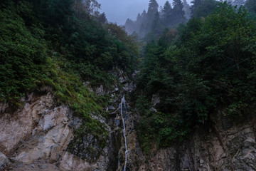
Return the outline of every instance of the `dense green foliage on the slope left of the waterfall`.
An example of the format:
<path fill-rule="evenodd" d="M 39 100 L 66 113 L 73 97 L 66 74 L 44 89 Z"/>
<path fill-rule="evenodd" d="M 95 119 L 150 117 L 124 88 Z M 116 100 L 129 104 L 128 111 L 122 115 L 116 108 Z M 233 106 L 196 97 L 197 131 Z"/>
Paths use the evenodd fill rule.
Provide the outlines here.
<path fill-rule="evenodd" d="M 95 0 L 1 1 L 0 102 L 15 108 L 28 93 L 53 93 L 104 147 L 105 125 L 90 115 L 103 113 L 104 98 L 85 82 L 110 88 L 109 71 L 132 73 L 138 48 L 124 28 L 107 24 L 99 6 Z"/>

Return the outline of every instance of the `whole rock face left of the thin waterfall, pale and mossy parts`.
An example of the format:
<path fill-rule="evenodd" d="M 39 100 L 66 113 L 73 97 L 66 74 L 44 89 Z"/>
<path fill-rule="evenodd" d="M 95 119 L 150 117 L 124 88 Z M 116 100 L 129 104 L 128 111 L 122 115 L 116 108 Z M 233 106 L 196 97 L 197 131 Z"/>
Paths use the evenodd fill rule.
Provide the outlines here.
<path fill-rule="evenodd" d="M 117 77 L 120 83 L 113 90 L 103 86 L 95 90 L 97 95 L 111 94 L 110 113 L 118 108 L 120 93 L 131 91 L 134 85 L 127 82 L 123 72 L 117 72 Z M 107 145 L 102 148 L 97 138 L 82 127 L 85 121 L 73 117 L 68 106 L 55 103 L 51 93 L 32 93 L 21 103 L 15 110 L 0 103 L 0 170 L 117 170 L 122 142 L 112 115 L 108 120 L 91 115 L 105 124 L 109 132 Z M 74 138 L 75 130 L 80 128 L 84 132 L 82 142 Z M 74 146 L 71 150 L 70 144 Z"/>

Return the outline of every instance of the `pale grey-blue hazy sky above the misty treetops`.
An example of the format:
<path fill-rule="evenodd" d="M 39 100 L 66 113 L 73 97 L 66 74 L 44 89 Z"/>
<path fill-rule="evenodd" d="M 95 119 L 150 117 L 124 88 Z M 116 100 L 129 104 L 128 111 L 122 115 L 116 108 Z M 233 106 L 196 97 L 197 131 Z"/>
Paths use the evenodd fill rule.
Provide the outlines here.
<path fill-rule="evenodd" d="M 105 12 L 107 20 L 124 24 L 129 18 L 135 20 L 138 13 L 147 11 L 149 0 L 97 0 L 102 6 L 100 12 Z M 164 6 L 166 0 L 156 0 L 159 6 Z M 187 0 L 190 3 L 192 0 Z M 169 0 L 172 3 L 171 0 Z"/>

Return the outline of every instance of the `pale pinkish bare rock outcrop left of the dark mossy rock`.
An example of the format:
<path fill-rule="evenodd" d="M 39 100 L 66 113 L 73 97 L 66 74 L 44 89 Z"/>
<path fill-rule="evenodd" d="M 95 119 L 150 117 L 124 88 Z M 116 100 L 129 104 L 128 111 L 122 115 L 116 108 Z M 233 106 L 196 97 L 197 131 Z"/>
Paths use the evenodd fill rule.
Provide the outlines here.
<path fill-rule="evenodd" d="M 15 112 L 0 104 L 0 170 L 92 170 L 89 164 L 65 152 L 74 123 L 65 105 L 53 95 L 31 95 Z M 70 125 L 74 125 L 73 127 Z M 9 162 L 9 160 L 11 162 Z M 56 167 L 58 165 L 58 167 Z"/>

